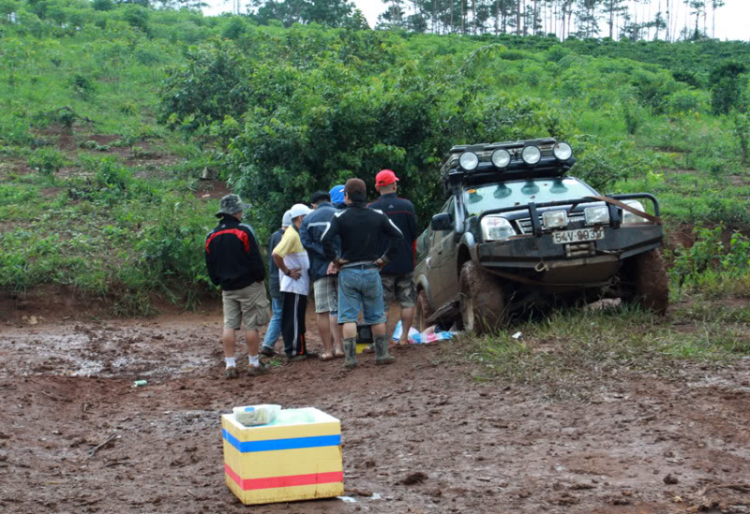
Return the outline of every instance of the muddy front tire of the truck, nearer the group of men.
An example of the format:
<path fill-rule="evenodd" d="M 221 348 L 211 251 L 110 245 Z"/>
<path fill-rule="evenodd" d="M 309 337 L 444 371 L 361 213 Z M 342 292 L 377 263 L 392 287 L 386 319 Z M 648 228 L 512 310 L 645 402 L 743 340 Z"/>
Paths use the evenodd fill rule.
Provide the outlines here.
<path fill-rule="evenodd" d="M 466 332 L 488 334 L 507 321 L 503 287 L 472 261 L 461 268 L 461 320 Z"/>

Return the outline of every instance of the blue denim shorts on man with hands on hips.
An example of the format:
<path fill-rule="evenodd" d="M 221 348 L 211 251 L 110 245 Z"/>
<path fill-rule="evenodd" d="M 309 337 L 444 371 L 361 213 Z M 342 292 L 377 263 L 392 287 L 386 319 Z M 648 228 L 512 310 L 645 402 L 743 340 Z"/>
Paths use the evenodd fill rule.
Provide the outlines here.
<path fill-rule="evenodd" d="M 339 323 L 356 323 L 360 305 L 365 325 L 385 323 L 383 284 L 375 267 L 339 271 Z"/>

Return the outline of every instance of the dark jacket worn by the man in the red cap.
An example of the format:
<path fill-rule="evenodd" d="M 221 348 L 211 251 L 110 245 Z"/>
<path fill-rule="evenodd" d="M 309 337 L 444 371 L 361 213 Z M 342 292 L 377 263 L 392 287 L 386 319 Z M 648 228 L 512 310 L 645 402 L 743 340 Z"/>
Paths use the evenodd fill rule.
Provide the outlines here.
<path fill-rule="evenodd" d="M 414 242 L 417 240 L 417 217 L 414 205 L 396 193 L 381 195 L 370 204 L 371 209 L 383 211 L 404 235 L 396 245 L 396 256 L 383 268 L 383 275 L 406 275 L 414 271 Z"/>

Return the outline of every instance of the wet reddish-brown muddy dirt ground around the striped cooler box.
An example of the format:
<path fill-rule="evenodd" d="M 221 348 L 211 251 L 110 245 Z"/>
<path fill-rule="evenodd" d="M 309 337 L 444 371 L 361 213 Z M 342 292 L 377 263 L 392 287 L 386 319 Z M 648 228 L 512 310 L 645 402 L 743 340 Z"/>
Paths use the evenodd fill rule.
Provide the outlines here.
<path fill-rule="evenodd" d="M 676 382 L 624 373 L 586 402 L 550 402 L 477 381 L 466 341 L 398 350 L 392 366 L 308 361 L 227 382 L 220 310 L 25 315 L 0 323 L 2 512 L 750 512 L 747 359 Z M 241 505 L 219 415 L 254 403 L 340 418 L 357 503 Z"/>

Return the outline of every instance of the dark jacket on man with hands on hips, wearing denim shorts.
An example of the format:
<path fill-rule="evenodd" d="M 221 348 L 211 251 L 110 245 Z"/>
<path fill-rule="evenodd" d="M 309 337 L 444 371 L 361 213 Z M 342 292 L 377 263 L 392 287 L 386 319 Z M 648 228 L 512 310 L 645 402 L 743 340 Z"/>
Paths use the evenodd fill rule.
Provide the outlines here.
<path fill-rule="evenodd" d="M 341 238 L 341 258 L 350 264 L 392 259 L 397 244 L 403 239 L 388 216 L 368 209 L 364 203 L 352 203 L 343 211 L 337 211 L 323 231 L 321 243 L 329 261 L 337 258 L 337 235 Z"/>

